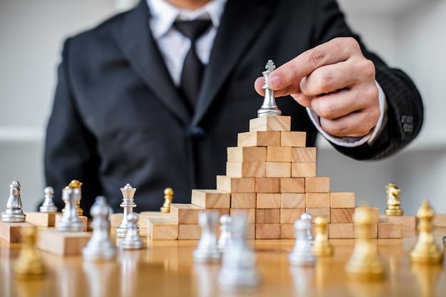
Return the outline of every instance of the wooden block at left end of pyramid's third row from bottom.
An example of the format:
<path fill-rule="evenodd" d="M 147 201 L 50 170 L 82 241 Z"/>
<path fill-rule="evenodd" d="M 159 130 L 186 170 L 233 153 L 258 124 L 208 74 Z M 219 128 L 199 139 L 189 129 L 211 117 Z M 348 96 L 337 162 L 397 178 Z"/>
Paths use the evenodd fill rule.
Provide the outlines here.
<path fill-rule="evenodd" d="M 192 189 L 191 203 L 204 209 L 229 209 L 231 205 L 231 193 L 217 189 Z"/>

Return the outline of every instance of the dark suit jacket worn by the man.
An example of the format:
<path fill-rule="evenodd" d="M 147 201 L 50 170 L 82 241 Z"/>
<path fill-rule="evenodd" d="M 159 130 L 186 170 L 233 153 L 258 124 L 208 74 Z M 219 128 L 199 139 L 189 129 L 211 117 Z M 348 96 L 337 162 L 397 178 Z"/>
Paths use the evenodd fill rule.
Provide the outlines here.
<path fill-rule="evenodd" d="M 334 37 L 353 36 L 332 0 L 228 0 L 192 114 L 152 39 L 149 18 L 142 0 L 65 43 L 45 152 L 46 181 L 59 207 L 71 179 L 83 182 L 87 213 L 100 194 L 121 211 L 126 183 L 138 189 L 137 211 L 159 209 L 166 187 L 177 203 L 190 202 L 191 189 L 215 189 L 227 147 L 237 146 L 237 133 L 249 130 L 263 101 L 253 85 L 266 61 L 280 66 Z M 368 160 L 418 134 L 422 103 L 404 73 L 363 51 L 387 96 L 388 126 L 373 147 L 337 149 Z M 291 98 L 277 101 L 291 115 L 292 130 L 305 130 L 313 146 L 316 130 L 306 110 Z"/>

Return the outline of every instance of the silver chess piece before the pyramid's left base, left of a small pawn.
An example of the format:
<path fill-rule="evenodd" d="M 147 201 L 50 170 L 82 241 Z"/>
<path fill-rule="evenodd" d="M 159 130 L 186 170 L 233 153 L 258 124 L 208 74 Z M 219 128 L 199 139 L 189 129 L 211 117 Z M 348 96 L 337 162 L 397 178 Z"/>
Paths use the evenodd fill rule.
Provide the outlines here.
<path fill-rule="evenodd" d="M 217 234 L 215 232 L 218 224 L 218 213 L 214 211 L 200 212 L 198 223 L 202 227 L 202 235 L 197 249 L 193 252 L 194 260 L 197 262 L 219 261 L 221 254 L 217 249 Z"/>

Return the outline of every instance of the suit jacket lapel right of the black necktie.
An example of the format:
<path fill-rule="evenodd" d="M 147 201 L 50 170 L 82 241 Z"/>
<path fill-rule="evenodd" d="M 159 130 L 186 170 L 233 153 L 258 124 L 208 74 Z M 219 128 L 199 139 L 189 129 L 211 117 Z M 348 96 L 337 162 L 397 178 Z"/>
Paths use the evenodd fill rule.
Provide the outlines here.
<path fill-rule="evenodd" d="M 209 64 L 203 75 L 202 89 L 192 125 L 197 125 L 215 99 L 224 81 L 237 67 L 244 48 L 256 37 L 266 21 L 274 1 L 228 0 L 217 36 L 215 37 Z M 252 17 L 249 17 L 252 16 Z M 237 31 L 237 33 L 234 33 Z M 252 82 L 254 85 L 254 81 Z M 254 86 L 253 86 L 254 91 Z"/>

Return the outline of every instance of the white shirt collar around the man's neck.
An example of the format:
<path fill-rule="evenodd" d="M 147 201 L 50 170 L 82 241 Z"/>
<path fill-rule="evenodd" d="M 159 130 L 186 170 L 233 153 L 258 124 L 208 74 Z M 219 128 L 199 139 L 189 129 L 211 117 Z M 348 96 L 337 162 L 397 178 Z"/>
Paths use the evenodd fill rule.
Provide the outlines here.
<path fill-rule="evenodd" d="M 224 5 L 227 0 L 212 0 L 208 4 L 195 9 L 194 11 L 179 9 L 165 0 L 147 0 L 152 18 L 150 19 L 150 28 L 153 36 L 160 38 L 172 28 L 176 19 L 210 19 L 212 26 L 218 28 L 220 17 L 224 11 Z"/>

